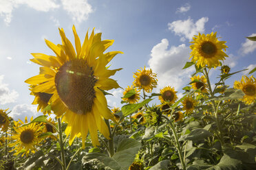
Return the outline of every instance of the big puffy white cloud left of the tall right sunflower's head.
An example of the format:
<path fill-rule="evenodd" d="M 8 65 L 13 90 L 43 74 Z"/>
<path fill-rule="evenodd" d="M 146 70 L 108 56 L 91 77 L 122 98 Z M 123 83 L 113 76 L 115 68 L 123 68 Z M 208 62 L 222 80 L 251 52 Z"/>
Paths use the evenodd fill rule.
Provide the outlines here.
<path fill-rule="evenodd" d="M 182 70 L 186 62 L 189 61 L 190 49 L 184 44 L 178 47 L 172 46 L 170 49 L 168 46 L 169 41 L 162 39 L 151 50 L 151 58 L 148 63 L 153 73 L 157 73 L 158 88 L 173 86 L 175 90 L 178 90 L 189 82 L 190 74 L 194 70 L 193 66 Z"/>

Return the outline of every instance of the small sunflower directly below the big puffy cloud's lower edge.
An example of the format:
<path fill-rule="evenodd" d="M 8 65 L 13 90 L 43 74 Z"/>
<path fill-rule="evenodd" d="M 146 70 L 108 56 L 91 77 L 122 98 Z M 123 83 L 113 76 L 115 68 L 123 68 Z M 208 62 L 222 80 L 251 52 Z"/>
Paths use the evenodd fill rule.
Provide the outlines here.
<path fill-rule="evenodd" d="M 166 86 L 160 90 L 160 96 L 158 97 L 161 103 L 163 104 L 164 101 L 169 102 L 169 104 L 173 104 L 176 99 L 178 99 L 176 95 L 176 91 L 173 87 Z"/>

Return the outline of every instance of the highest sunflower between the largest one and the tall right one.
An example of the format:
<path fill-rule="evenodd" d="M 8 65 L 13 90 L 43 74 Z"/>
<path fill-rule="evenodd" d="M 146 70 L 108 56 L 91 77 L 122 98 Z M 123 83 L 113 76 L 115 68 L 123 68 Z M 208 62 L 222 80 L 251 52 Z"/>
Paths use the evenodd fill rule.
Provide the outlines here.
<path fill-rule="evenodd" d="M 156 79 L 156 73 L 153 73 L 151 69 L 142 69 L 134 73 L 134 86 L 139 89 L 144 89 L 145 92 L 151 93 L 152 89 L 156 87 L 158 80 Z"/>

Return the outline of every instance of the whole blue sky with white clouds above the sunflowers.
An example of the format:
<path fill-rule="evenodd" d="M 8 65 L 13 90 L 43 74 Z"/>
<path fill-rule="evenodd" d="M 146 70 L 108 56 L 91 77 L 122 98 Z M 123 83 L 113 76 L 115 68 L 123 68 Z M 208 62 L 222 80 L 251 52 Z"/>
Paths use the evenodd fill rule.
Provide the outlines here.
<path fill-rule="evenodd" d="M 94 27 L 103 32 L 103 39 L 114 39 L 108 51 L 124 52 L 111 62 L 111 68 L 123 68 L 114 76 L 122 88 L 146 66 L 158 74 L 154 92 L 173 86 L 181 94 L 193 73 L 182 67 L 189 60 L 189 42 L 198 32 L 217 32 L 226 41 L 225 64 L 231 72 L 253 69 L 256 42 L 245 37 L 256 36 L 255 6 L 253 0 L 0 0 L 0 108 L 10 108 L 14 119 L 40 114 L 31 105 L 33 97 L 24 81 L 39 73 L 30 53 L 54 55 L 44 39 L 61 43 L 58 27 L 72 42 L 72 25 L 81 39 Z M 211 73 L 213 81 L 218 73 Z M 232 86 L 241 76 L 228 83 Z M 122 89 L 110 92 L 114 96 L 107 97 L 109 106 L 121 106 Z"/>

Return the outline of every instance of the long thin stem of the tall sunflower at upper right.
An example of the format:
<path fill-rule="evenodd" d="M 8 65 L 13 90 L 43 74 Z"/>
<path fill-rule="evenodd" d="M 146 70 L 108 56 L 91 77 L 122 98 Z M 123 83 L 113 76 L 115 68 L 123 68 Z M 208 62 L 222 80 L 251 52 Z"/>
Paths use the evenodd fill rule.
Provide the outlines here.
<path fill-rule="evenodd" d="M 211 97 L 214 97 L 213 90 L 211 89 L 211 82 L 210 82 L 210 79 L 209 79 L 208 71 L 206 70 L 206 68 L 204 68 L 204 75 L 206 77 L 207 84 L 209 86 L 210 95 L 211 95 Z M 215 106 L 215 101 L 214 100 L 211 102 L 211 104 L 212 104 L 213 110 L 215 112 L 215 121 L 216 121 L 216 124 L 217 124 L 217 129 L 220 132 L 220 143 L 223 146 L 224 145 L 224 141 L 223 141 L 223 135 L 222 135 L 222 127 L 220 125 L 220 119 L 219 119 L 218 114 L 217 114 L 218 110 L 217 110 L 217 108 Z"/>

